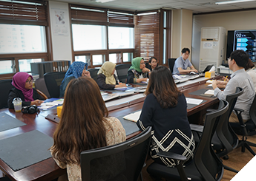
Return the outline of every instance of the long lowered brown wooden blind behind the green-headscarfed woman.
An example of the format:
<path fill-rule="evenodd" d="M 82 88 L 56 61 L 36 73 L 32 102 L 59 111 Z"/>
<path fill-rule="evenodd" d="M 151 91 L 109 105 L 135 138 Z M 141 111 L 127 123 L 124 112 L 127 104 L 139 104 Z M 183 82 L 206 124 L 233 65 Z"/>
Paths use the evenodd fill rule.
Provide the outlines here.
<path fill-rule="evenodd" d="M 135 57 L 160 58 L 160 13 L 134 17 Z"/>

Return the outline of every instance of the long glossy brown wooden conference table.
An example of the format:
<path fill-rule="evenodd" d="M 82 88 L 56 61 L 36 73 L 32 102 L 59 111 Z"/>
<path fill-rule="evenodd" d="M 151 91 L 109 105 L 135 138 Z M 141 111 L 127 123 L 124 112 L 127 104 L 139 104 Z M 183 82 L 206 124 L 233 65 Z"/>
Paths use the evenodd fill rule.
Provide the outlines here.
<path fill-rule="evenodd" d="M 217 77 L 218 78 L 218 77 Z M 206 83 L 207 78 L 199 78 L 187 83 L 177 84 L 178 89 L 186 96 L 186 98 L 195 98 L 203 100 L 203 103 L 200 105 L 194 106 L 188 110 L 188 120 L 190 123 L 202 123 L 202 116 L 206 113 L 208 108 L 216 108 L 219 100 L 217 98 L 208 98 L 200 95 L 193 95 L 192 92 L 196 92 L 200 89 L 209 89 L 209 84 Z M 143 101 L 145 98 L 140 98 L 139 100 L 134 100 L 129 103 L 123 103 L 116 106 L 108 107 L 109 116 L 120 117 L 128 115 L 131 112 L 136 112 L 137 110 L 142 109 Z M 8 137 L 13 137 L 22 133 L 31 132 L 33 130 L 38 130 L 50 137 L 53 137 L 53 132 L 55 131 L 58 123 L 46 119 L 47 115 L 55 114 L 56 109 L 40 111 L 39 114 L 23 114 L 22 112 L 15 112 L 14 109 L 0 109 L 0 113 L 5 112 L 7 115 L 15 117 L 18 120 L 21 120 L 23 123 L 26 123 L 25 126 L 17 127 L 14 129 L 9 129 L 3 132 L 0 132 L 0 140 L 3 140 Z M 135 123 L 134 123 L 135 124 Z M 131 134 L 127 135 L 127 139 L 134 137 L 139 134 L 140 131 L 136 130 Z M 19 149 L 19 148 L 17 148 Z M 66 170 L 59 168 L 58 165 L 54 162 L 53 158 L 50 157 L 47 160 L 42 160 L 39 163 L 27 166 L 22 168 L 19 171 L 13 171 L 9 165 L 4 163 L 0 159 L 0 169 L 4 172 L 11 180 L 54 180 L 62 174 L 65 174 Z"/>

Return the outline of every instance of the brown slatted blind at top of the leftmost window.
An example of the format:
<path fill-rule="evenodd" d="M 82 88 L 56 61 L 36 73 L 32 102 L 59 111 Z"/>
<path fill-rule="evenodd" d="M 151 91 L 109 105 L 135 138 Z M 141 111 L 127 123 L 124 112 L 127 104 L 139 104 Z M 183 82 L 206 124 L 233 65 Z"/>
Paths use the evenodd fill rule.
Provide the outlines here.
<path fill-rule="evenodd" d="M 47 26 L 47 3 L 45 1 L 0 1 L 0 23 Z"/>

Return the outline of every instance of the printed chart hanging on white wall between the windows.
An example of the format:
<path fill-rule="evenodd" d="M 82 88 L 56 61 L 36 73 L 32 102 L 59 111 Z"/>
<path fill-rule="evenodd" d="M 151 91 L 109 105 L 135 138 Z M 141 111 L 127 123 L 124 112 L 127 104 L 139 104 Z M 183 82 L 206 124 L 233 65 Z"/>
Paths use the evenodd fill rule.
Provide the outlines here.
<path fill-rule="evenodd" d="M 54 14 L 53 34 L 68 35 L 68 10 L 52 9 Z"/>

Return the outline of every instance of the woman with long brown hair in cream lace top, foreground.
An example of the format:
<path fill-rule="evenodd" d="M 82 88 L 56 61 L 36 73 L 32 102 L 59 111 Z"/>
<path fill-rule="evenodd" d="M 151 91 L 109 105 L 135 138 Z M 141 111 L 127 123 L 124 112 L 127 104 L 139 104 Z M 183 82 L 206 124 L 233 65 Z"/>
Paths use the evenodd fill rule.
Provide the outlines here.
<path fill-rule="evenodd" d="M 61 120 L 53 134 L 50 151 L 60 168 L 67 168 L 68 180 L 82 180 L 80 153 L 125 141 L 125 129 L 108 109 L 92 78 L 70 81 L 65 91 Z"/>

